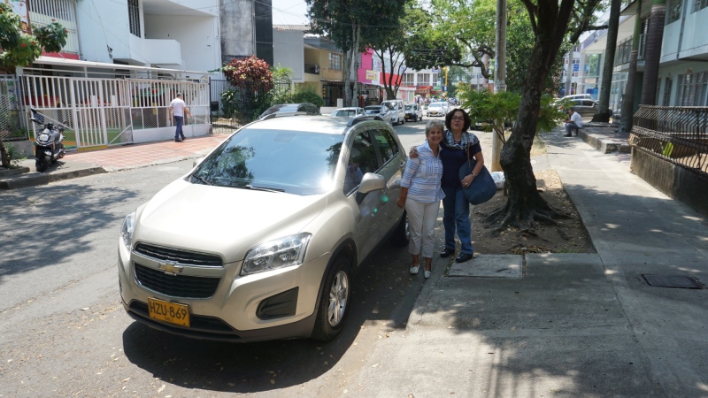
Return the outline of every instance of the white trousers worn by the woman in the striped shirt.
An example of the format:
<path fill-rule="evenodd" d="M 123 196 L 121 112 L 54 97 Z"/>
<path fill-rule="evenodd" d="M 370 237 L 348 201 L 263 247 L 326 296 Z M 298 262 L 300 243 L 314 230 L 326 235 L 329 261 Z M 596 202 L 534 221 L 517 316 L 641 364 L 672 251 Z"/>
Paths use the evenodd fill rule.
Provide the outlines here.
<path fill-rule="evenodd" d="M 405 211 L 408 213 L 408 232 L 411 233 L 408 251 L 412 255 L 433 257 L 438 210 L 440 210 L 440 201 L 420 203 L 412 199 L 405 200 Z"/>

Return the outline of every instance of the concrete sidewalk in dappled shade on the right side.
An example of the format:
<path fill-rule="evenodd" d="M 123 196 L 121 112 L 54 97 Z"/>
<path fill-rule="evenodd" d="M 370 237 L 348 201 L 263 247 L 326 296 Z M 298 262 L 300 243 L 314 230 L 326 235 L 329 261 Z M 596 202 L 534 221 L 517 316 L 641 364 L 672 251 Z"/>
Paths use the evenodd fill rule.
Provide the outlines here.
<path fill-rule="evenodd" d="M 629 155 L 544 138 L 537 163 L 558 171 L 597 253 L 437 257 L 353 396 L 708 396 L 706 290 L 643 276 L 708 281 L 706 220 L 633 175 Z"/>

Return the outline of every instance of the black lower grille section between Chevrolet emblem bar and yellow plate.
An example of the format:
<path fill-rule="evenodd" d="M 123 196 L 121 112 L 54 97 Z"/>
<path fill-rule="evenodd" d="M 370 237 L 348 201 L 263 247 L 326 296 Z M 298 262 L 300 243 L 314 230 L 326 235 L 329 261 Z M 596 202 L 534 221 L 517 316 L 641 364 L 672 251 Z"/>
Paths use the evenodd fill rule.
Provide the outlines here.
<path fill-rule="evenodd" d="M 168 275 L 141 264 L 135 264 L 135 279 L 144 287 L 163 295 L 183 298 L 209 298 L 216 293 L 220 278 Z"/>

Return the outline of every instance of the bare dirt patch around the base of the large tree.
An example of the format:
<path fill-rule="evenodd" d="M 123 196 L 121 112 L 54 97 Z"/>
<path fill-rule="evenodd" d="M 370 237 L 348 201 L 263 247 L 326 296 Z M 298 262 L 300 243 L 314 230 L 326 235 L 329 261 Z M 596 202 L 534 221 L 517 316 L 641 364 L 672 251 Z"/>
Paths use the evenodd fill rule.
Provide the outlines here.
<path fill-rule="evenodd" d="M 484 218 L 492 210 L 504 206 L 508 199 L 503 190 L 497 190 L 489 202 L 475 206 L 472 211 L 474 251 L 480 254 L 596 253 L 578 210 L 563 188 L 558 172 L 543 170 L 534 174 L 543 199 L 554 209 L 568 214 L 569 218 L 558 218 L 557 226 L 536 223 L 534 233 L 519 233 L 517 228 L 510 227 L 493 237 L 494 226 L 486 224 Z"/>

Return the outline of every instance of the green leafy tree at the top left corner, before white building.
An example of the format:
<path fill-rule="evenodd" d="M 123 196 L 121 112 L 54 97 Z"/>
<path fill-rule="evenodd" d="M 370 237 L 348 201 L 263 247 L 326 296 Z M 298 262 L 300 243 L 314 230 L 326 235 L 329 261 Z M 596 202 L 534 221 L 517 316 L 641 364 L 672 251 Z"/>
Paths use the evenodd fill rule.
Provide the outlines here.
<path fill-rule="evenodd" d="M 12 7 L 0 3 L 0 72 L 15 73 L 18 66 L 32 65 L 42 49 L 58 52 L 66 44 L 66 30 L 57 22 L 44 27 L 34 27 L 34 34 L 22 32 L 21 19 Z M 5 168 L 10 167 L 10 158 L 0 138 L 0 158 Z"/>

